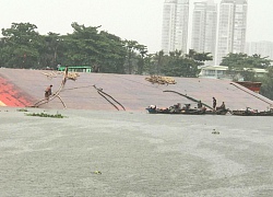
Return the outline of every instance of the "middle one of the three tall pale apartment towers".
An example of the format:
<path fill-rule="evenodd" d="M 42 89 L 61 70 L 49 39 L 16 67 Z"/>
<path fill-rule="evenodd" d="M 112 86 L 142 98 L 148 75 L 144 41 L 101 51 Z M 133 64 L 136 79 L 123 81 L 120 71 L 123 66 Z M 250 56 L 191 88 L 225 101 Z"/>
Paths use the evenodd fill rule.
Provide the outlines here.
<path fill-rule="evenodd" d="M 191 48 L 198 53 L 211 53 L 215 59 L 216 31 L 217 4 L 213 0 L 194 2 Z"/>

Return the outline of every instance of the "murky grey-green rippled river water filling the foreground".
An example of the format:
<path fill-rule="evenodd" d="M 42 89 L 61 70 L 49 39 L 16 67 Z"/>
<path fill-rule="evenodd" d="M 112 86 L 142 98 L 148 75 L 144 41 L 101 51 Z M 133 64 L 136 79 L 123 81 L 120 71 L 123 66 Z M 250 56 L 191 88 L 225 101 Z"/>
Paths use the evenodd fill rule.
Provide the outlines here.
<path fill-rule="evenodd" d="M 272 117 L 0 111 L 1 197 L 273 196 Z"/>

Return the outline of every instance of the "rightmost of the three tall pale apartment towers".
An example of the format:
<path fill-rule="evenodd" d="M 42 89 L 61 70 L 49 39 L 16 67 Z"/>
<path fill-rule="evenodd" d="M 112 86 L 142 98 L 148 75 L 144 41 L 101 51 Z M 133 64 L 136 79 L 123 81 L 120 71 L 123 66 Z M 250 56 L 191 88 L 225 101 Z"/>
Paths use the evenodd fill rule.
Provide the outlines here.
<path fill-rule="evenodd" d="M 247 0 L 221 1 L 216 65 L 229 53 L 245 53 L 247 10 Z"/>

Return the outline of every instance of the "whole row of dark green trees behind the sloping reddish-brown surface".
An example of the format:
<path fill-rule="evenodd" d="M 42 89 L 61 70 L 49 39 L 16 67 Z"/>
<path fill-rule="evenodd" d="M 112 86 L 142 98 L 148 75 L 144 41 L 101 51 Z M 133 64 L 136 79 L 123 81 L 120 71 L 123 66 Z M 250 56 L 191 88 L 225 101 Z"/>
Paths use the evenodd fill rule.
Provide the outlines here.
<path fill-rule="evenodd" d="M 71 26 L 73 32 L 67 35 L 52 32 L 40 35 L 37 26 L 31 23 L 12 23 L 10 28 L 2 28 L 0 67 L 45 69 L 56 68 L 59 63 L 98 65 L 99 71 L 105 73 L 197 78 L 199 66 L 213 60 L 210 53 L 193 49 L 187 54 L 181 50 L 149 54 L 145 45 L 99 31 L 100 26 L 85 26 L 75 22 Z M 273 99 L 273 71 L 266 57 L 228 54 L 221 65 L 228 66 L 230 73 L 240 71 L 246 81 L 262 81 L 262 94 Z M 253 68 L 263 68 L 269 72 L 262 79 L 257 78 Z"/>

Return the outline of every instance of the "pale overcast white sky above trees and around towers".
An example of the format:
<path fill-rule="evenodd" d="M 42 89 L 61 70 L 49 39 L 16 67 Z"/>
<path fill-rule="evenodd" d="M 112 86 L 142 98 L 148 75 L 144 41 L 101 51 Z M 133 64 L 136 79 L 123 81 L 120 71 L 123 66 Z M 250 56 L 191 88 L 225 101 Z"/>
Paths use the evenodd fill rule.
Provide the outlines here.
<path fill-rule="evenodd" d="M 161 50 L 165 0 L 0 0 L 0 27 L 35 24 L 37 32 L 66 35 L 71 24 L 99 26 L 100 31 L 136 40 L 149 53 Z M 190 0 L 190 21 L 193 2 Z M 219 3 L 221 0 L 214 0 Z M 247 42 L 273 42 L 273 0 L 248 0 Z M 191 25 L 189 26 L 189 35 Z"/>

